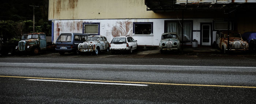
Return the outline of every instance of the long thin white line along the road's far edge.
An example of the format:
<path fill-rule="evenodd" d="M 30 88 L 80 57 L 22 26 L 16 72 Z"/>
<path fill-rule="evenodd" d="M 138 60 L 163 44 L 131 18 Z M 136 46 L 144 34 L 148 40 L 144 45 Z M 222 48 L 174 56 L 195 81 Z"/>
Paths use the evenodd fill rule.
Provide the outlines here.
<path fill-rule="evenodd" d="M 210 68 L 256 68 L 256 67 L 228 67 L 228 66 L 169 66 L 169 65 L 109 65 L 109 64 L 70 64 L 70 63 L 0 63 L 0 64 L 41 64 L 41 65 L 86 65 L 86 66 L 153 66 L 153 67 L 210 67 Z"/>

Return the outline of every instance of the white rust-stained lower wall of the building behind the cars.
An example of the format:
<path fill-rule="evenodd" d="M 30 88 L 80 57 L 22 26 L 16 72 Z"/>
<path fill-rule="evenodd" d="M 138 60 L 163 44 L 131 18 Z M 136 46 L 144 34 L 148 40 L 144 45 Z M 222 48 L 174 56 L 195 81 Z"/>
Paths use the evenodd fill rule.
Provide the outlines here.
<path fill-rule="evenodd" d="M 103 19 L 103 20 L 53 20 L 54 22 L 54 38 L 53 43 L 56 42 L 57 37 L 60 33 L 74 32 L 83 33 L 82 23 L 83 22 L 100 22 L 100 35 L 105 36 L 109 42 L 115 35 L 120 34 L 121 36 L 131 36 L 137 40 L 138 45 L 147 46 L 158 46 L 161 40 L 161 34 L 164 33 L 165 20 L 178 19 Z M 200 23 L 211 22 L 213 18 L 186 18 L 184 20 L 193 20 L 192 39 L 198 40 L 200 44 Z M 181 21 L 181 19 L 180 19 Z M 133 34 L 133 22 L 153 22 L 153 35 L 151 36 L 135 36 Z M 215 40 L 216 32 L 213 32 L 213 41 Z M 191 45 L 191 43 L 186 43 Z"/>

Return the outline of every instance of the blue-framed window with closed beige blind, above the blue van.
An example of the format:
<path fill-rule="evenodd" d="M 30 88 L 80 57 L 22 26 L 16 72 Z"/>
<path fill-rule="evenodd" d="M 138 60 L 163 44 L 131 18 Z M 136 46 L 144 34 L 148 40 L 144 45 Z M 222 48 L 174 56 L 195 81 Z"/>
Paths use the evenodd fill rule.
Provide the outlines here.
<path fill-rule="evenodd" d="M 83 23 L 83 33 L 90 35 L 99 35 L 99 22 Z"/>

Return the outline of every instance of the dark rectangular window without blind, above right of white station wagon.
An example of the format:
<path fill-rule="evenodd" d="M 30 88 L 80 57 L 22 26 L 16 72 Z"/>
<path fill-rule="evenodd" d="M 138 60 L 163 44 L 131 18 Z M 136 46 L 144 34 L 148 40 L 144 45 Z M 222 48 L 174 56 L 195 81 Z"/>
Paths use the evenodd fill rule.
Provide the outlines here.
<path fill-rule="evenodd" d="M 153 22 L 133 22 L 134 35 L 152 35 Z"/>

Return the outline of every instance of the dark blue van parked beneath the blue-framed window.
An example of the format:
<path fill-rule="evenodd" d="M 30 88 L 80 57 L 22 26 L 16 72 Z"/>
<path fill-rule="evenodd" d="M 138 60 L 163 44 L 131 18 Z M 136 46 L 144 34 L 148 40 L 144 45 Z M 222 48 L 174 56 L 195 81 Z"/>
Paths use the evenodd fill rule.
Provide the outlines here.
<path fill-rule="evenodd" d="M 56 40 L 55 50 L 64 55 L 65 52 L 79 54 L 78 44 L 83 43 L 90 35 L 81 33 L 61 33 Z"/>

